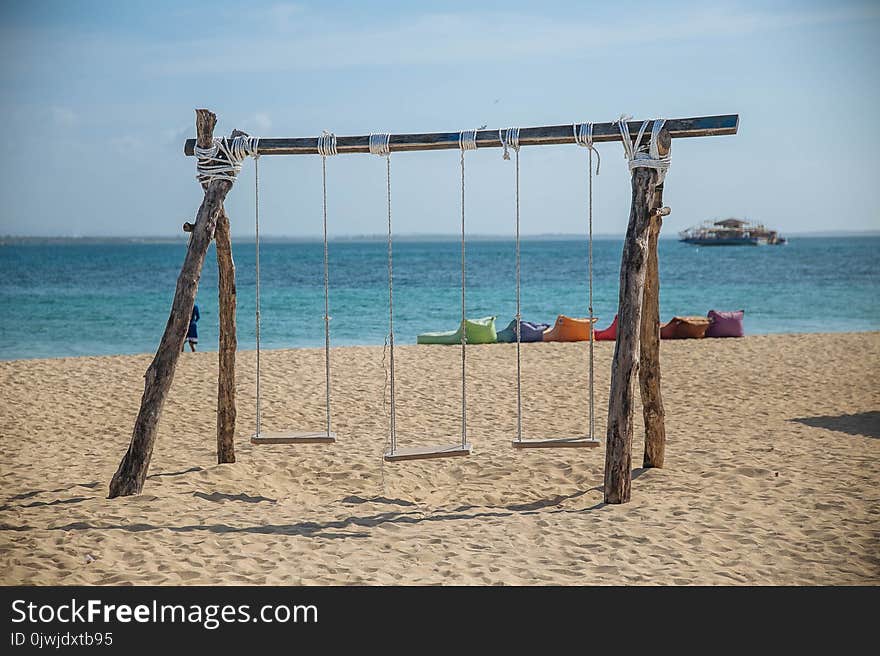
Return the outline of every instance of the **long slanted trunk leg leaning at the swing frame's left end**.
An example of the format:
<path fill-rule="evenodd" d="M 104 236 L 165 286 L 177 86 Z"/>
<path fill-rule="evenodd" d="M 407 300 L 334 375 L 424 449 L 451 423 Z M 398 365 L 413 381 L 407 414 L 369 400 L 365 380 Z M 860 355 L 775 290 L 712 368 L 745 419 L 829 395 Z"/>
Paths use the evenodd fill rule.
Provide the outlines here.
<path fill-rule="evenodd" d="M 217 117 L 212 112 L 206 109 L 196 110 L 196 133 L 200 147 L 210 147 L 216 122 Z M 223 200 L 231 187 L 231 182 L 218 180 L 211 182 L 205 190 L 205 198 L 196 215 L 183 267 L 177 277 L 177 289 L 168 323 L 165 324 L 165 333 L 153 362 L 144 374 L 144 395 L 132 431 L 131 443 L 110 481 L 111 499 L 139 494 L 144 487 L 162 407 L 171 388 L 177 359 L 189 327 L 205 253 L 214 238 L 217 216 L 223 210 Z"/>

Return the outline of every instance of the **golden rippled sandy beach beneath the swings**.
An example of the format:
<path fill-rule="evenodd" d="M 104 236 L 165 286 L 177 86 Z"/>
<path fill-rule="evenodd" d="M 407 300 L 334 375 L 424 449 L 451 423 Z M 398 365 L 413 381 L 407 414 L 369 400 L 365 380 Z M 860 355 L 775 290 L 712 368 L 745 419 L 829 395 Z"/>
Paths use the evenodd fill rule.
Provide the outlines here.
<path fill-rule="evenodd" d="M 596 345 L 603 438 L 613 343 Z M 510 447 L 513 345 L 468 351 L 469 458 L 384 463 L 381 347 L 333 350 L 332 446 L 215 464 L 216 353 L 185 353 L 138 497 L 108 500 L 151 355 L 0 363 L 0 566 L 11 584 L 880 582 L 880 333 L 664 341 L 666 468 L 602 503 L 604 447 Z M 523 346 L 525 432 L 586 424 L 586 344 Z M 459 438 L 454 347 L 397 353 L 401 446 Z M 323 353 L 264 353 L 266 430 L 320 429 Z M 641 407 L 634 465 L 641 464 Z"/>

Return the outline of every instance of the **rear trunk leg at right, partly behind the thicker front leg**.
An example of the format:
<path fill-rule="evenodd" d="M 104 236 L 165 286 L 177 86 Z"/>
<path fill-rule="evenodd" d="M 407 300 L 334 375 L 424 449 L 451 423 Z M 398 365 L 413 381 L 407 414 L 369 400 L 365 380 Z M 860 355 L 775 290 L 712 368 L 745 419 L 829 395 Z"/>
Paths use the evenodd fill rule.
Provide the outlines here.
<path fill-rule="evenodd" d="M 645 420 L 645 456 L 643 467 L 662 467 L 666 453 L 666 413 L 660 393 L 660 272 L 657 239 L 663 217 L 663 185 L 657 185 L 651 200 L 648 227 L 648 262 L 645 271 L 645 296 L 642 301 L 642 337 L 639 358 L 639 386 L 642 392 L 642 415 Z"/>

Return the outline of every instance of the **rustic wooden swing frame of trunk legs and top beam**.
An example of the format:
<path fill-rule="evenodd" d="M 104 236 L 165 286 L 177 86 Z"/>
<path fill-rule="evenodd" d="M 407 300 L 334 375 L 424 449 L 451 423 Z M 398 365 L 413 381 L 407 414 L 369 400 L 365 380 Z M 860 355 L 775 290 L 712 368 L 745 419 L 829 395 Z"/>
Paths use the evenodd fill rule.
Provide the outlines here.
<path fill-rule="evenodd" d="M 196 139 L 184 144 L 186 155 L 195 154 L 195 146 L 210 148 L 214 138 L 216 115 L 207 109 L 196 110 Z M 630 139 L 637 138 L 643 121 L 628 121 Z M 658 139 L 668 153 L 671 140 L 736 134 L 736 114 L 670 119 Z M 234 131 L 231 137 L 240 133 Z M 393 152 L 442 150 L 459 147 L 459 132 L 391 135 Z M 644 135 L 642 143 L 649 135 Z M 259 155 L 315 155 L 320 137 L 295 139 L 260 139 Z M 338 137 L 340 154 L 367 153 L 369 135 Z M 594 123 L 593 141 L 621 141 L 617 122 Z M 570 144 L 572 125 L 522 128 L 521 146 Z M 478 149 L 502 147 L 498 130 L 479 130 Z M 637 143 L 636 146 L 640 146 Z M 639 377 L 645 421 L 644 467 L 662 467 L 666 433 L 660 394 L 660 320 L 657 238 L 663 208 L 663 185 L 653 169 L 636 168 L 632 172 L 632 200 L 620 268 L 618 331 L 614 347 L 609 392 L 608 424 L 605 450 L 605 502 L 625 503 L 631 496 L 633 383 Z M 195 223 L 184 224 L 191 233 L 171 312 L 165 331 L 146 374 L 140 410 L 132 430 L 131 442 L 110 482 L 109 496 L 139 494 L 144 485 L 156 440 L 162 408 L 171 388 L 174 371 L 186 336 L 189 317 L 195 303 L 199 276 L 211 241 L 217 241 L 220 269 L 220 347 L 217 395 L 217 460 L 235 462 L 235 270 L 231 257 L 229 218 L 223 202 L 232 188 L 230 180 L 212 180 L 202 184 L 204 199 Z M 572 442 L 574 443 L 574 442 Z M 469 445 L 466 445 L 469 447 Z M 531 448 L 531 447 L 524 447 Z M 462 448 L 464 451 L 465 449 Z M 410 450 L 412 451 L 412 450 Z M 469 452 L 470 449 L 468 448 Z M 399 452 L 403 455 L 403 451 Z M 462 453 L 461 455 L 466 455 Z M 401 458 L 404 459 L 404 458 Z"/>

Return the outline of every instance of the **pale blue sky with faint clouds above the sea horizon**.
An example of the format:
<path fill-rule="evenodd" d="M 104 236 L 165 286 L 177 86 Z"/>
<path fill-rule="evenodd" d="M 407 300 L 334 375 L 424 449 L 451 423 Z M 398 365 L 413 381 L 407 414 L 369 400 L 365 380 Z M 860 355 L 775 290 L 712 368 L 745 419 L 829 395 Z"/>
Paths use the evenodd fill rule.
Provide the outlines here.
<path fill-rule="evenodd" d="M 744 216 L 785 232 L 880 229 L 874 2 L 8 2 L 0 4 L 0 234 L 180 234 L 201 192 L 193 109 L 217 134 L 462 130 L 739 113 L 676 140 L 664 232 Z M 600 146 L 595 230 L 622 235 L 620 144 Z M 470 154 L 468 227 L 511 234 L 513 170 Z M 523 231 L 585 226 L 584 152 L 522 151 Z M 455 233 L 458 154 L 395 155 L 395 227 Z M 384 229 L 384 166 L 328 162 L 330 232 Z M 320 232 L 320 160 L 260 161 L 269 235 Z M 253 162 L 227 210 L 253 234 Z"/>

